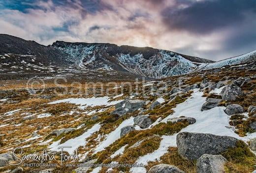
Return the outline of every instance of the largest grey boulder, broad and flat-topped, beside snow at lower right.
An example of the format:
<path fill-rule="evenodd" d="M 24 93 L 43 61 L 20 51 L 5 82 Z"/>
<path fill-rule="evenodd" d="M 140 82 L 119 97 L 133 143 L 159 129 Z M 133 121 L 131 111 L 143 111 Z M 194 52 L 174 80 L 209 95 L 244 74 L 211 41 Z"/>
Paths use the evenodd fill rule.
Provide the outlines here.
<path fill-rule="evenodd" d="M 203 154 L 221 154 L 229 147 L 235 147 L 238 139 L 204 133 L 180 132 L 176 143 L 181 156 L 194 160 Z"/>

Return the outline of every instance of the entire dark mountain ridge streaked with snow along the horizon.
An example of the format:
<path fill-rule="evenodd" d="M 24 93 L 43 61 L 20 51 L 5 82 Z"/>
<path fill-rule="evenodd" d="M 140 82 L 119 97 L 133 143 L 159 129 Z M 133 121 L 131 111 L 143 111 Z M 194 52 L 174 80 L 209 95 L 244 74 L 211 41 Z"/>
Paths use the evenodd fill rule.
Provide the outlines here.
<path fill-rule="evenodd" d="M 56 41 L 44 46 L 0 34 L 0 72 L 6 76 L 165 78 L 226 65 L 255 62 L 256 51 L 218 62 L 151 47 Z M 9 78 L 8 78 L 9 79 Z"/>

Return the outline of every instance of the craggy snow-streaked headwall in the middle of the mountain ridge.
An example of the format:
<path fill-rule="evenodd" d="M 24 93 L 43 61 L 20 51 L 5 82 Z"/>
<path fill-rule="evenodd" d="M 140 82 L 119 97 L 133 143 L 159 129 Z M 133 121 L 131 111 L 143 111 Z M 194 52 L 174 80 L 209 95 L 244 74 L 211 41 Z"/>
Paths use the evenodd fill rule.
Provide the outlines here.
<path fill-rule="evenodd" d="M 201 63 L 212 62 L 150 47 L 138 48 L 107 43 L 63 41 L 56 41 L 52 47 L 68 54 L 65 60 L 74 62 L 85 69 L 107 68 L 151 78 L 186 74 Z"/>

